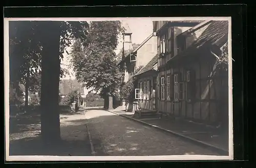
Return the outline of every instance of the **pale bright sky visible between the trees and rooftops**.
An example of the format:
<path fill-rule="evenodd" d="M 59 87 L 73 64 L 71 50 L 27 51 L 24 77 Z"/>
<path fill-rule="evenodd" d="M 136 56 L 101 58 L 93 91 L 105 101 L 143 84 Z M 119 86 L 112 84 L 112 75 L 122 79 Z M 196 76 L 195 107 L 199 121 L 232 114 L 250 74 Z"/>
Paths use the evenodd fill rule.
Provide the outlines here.
<path fill-rule="evenodd" d="M 120 20 L 122 22 L 122 26 L 129 32 L 132 33 L 132 43 L 140 44 L 142 43 L 148 36 L 153 33 L 153 22 L 151 18 L 124 18 Z M 122 38 L 119 38 L 119 44 L 117 46 L 116 54 L 122 49 Z M 71 48 L 68 47 L 67 51 L 70 53 Z M 61 67 L 66 67 L 69 69 L 71 78 L 74 79 L 74 72 L 72 69 L 68 68 L 70 56 L 63 54 L 64 58 L 61 61 Z M 65 77 L 66 79 L 70 77 Z"/>

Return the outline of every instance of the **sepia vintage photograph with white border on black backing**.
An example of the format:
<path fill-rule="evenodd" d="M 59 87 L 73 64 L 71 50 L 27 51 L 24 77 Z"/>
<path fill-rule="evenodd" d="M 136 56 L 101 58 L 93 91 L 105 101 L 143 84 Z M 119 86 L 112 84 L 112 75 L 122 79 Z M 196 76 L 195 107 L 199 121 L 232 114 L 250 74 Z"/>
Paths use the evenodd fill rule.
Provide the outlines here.
<path fill-rule="evenodd" d="M 233 159 L 231 17 L 5 18 L 4 31 L 7 161 Z"/>

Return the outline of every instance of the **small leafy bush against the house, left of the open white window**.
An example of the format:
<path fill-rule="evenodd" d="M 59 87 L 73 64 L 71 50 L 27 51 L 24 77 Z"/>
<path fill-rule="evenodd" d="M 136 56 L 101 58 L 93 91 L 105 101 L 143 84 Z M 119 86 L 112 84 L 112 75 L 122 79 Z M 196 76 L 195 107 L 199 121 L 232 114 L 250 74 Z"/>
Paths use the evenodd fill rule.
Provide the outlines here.
<path fill-rule="evenodd" d="M 139 66 L 136 68 L 135 73 L 137 74 L 138 71 L 142 68 L 143 66 Z M 135 84 L 136 84 L 136 76 L 133 76 L 130 78 L 121 88 L 120 90 L 120 98 L 124 100 L 125 102 L 129 102 L 134 100 L 134 95 L 135 95 Z"/>

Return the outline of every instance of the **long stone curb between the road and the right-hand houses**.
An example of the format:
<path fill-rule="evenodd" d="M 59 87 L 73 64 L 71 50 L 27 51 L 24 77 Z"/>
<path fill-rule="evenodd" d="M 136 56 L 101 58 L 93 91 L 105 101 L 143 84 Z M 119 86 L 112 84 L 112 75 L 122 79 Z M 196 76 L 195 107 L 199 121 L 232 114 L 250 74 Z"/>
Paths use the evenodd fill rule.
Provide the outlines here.
<path fill-rule="evenodd" d="M 152 124 L 149 124 L 149 123 L 140 121 L 139 119 L 132 118 L 132 117 L 129 117 L 129 116 L 125 116 L 125 115 L 123 115 L 123 114 L 118 114 L 118 113 L 116 113 L 116 112 L 114 112 L 114 111 L 111 111 L 111 110 L 106 110 L 106 109 L 104 109 L 104 110 L 105 110 L 105 111 L 109 111 L 109 112 L 111 112 L 111 113 L 114 113 L 114 114 L 116 114 L 116 115 L 125 117 L 125 118 L 129 118 L 129 119 L 131 119 L 131 120 L 133 120 L 133 121 L 136 121 L 136 122 L 138 122 L 138 123 L 142 123 L 142 124 L 144 124 L 144 125 L 147 125 L 147 126 L 150 126 L 150 127 L 153 127 L 153 128 L 156 128 L 156 129 L 159 129 L 159 130 L 162 130 L 162 131 L 171 133 L 171 134 L 174 134 L 174 135 L 179 136 L 179 137 L 182 137 L 182 138 L 184 138 L 184 139 L 186 139 L 186 140 L 190 140 L 190 141 L 192 141 L 192 142 L 196 142 L 196 143 L 198 143 L 199 145 L 202 145 L 202 146 L 211 148 L 212 150 L 214 150 L 214 151 L 216 151 L 216 152 L 218 152 L 218 153 L 220 153 L 220 154 L 228 155 L 228 151 L 227 151 L 227 150 L 224 150 L 224 149 L 222 149 L 222 148 L 219 148 L 219 147 L 210 145 L 209 143 L 203 142 L 203 141 L 201 141 L 201 140 L 197 140 L 197 139 L 194 139 L 194 138 L 190 138 L 190 137 L 188 137 L 188 136 L 179 134 L 179 133 L 177 133 L 177 132 L 170 131 L 170 130 L 164 129 L 164 128 L 162 128 L 162 127 L 158 127 L 158 126 L 155 126 L 155 125 L 152 125 Z"/>

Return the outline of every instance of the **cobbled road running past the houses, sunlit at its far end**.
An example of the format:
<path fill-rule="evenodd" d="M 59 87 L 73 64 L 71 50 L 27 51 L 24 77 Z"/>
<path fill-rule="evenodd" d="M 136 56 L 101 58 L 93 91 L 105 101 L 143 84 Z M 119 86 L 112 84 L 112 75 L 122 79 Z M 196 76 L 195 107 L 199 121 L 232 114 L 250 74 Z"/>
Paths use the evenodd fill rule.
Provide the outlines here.
<path fill-rule="evenodd" d="M 97 156 L 219 155 L 192 142 L 104 110 L 88 110 Z"/>

